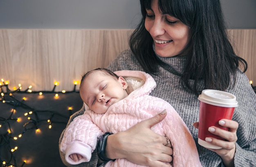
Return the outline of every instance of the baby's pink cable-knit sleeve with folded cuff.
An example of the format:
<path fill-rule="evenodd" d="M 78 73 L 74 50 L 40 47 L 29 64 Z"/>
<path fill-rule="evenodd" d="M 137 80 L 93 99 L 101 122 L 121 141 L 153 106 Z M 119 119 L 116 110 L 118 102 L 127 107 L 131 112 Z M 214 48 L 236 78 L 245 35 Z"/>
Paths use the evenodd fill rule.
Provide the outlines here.
<path fill-rule="evenodd" d="M 66 128 L 61 141 L 60 149 L 65 152 L 65 160 L 74 165 L 89 162 L 101 135 L 103 132 L 91 121 L 89 114 L 77 116 Z M 83 158 L 75 162 L 70 158 L 71 154 L 80 154 Z"/>

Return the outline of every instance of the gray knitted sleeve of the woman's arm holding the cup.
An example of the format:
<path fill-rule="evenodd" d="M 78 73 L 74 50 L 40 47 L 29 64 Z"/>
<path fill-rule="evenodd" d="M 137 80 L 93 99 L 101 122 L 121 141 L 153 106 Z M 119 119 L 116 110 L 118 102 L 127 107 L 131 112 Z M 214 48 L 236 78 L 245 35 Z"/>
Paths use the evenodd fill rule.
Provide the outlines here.
<path fill-rule="evenodd" d="M 233 120 L 239 124 L 236 132 L 236 166 L 255 166 L 256 164 L 256 94 L 249 84 L 249 79 L 238 72 L 236 86 L 231 93 L 236 95 L 238 107 Z"/>

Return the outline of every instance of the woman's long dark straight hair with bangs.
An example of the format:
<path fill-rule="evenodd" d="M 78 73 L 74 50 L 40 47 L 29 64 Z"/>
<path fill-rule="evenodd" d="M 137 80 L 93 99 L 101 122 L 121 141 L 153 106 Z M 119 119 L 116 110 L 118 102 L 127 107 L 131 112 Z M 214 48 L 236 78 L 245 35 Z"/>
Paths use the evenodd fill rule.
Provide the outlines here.
<path fill-rule="evenodd" d="M 141 22 L 130 37 L 130 48 L 147 73 L 156 73 L 161 62 L 153 51 L 153 39 L 144 23 L 150 0 L 140 0 Z M 219 0 L 158 0 L 159 10 L 169 14 L 190 29 L 186 46 L 188 61 L 181 76 L 182 85 L 196 94 L 197 84 L 204 81 L 204 88 L 226 90 L 236 81 L 239 65 L 243 72 L 247 62 L 238 57 L 231 46 Z M 194 82 L 189 82 L 193 79 Z M 231 84 L 233 82 L 233 84 Z"/>

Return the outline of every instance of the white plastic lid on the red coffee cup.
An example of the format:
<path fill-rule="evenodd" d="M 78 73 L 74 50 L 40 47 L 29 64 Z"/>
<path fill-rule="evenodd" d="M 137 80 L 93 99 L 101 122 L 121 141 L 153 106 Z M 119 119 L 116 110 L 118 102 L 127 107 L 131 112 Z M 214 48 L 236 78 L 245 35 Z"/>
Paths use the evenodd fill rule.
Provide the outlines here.
<path fill-rule="evenodd" d="M 238 102 L 236 96 L 229 92 L 221 90 L 205 89 L 202 94 L 199 95 L 198 100 L 220 107 L 237 107 Z"/>

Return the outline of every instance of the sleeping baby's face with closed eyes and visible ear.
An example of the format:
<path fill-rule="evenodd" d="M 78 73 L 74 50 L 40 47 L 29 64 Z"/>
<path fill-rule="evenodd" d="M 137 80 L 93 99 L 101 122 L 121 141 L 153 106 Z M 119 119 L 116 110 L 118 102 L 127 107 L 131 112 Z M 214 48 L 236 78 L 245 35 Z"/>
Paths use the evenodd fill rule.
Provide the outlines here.
<path fill-rule="evenodd" d="M 101 71 L 95 71 L 83 81 L 80 96 L 92 111 L 103 114 L 112 104 L 128 95 L 126 88 L 127 83 L 123 77 L 117 80 Z"/>

